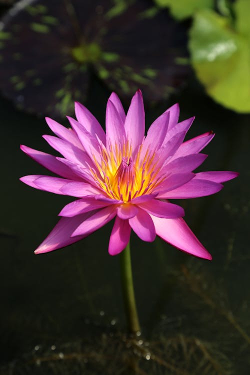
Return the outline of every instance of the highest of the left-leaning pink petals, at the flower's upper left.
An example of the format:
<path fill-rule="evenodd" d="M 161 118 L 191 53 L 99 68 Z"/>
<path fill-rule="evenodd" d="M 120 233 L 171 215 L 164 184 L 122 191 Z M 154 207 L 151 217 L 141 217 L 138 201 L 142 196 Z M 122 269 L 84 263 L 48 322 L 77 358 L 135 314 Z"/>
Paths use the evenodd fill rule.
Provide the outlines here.
<path fill-rule="evenodd" d="M 92 113 L 78 101 L 75 102 L 74 109 L 77 121 L 94 137 L 97 135 L 102 143 L 105 144 L 105 132 Z"/>

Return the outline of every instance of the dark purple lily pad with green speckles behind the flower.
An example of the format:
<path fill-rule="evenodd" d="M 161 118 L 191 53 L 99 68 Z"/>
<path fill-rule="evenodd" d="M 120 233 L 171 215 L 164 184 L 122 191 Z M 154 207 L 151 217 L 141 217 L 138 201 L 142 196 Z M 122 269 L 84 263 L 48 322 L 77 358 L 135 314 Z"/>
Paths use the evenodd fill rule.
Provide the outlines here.
<path fill-rule="evenodd" d="M 0 22 L 2 93 L 64 116 L 84 101 L 92 70 L 123 97 L 140 87 L 147 100 L 166 98 L 189 72 L 185 30 L 146 0 L 130 2 L 17 2 Z"/>

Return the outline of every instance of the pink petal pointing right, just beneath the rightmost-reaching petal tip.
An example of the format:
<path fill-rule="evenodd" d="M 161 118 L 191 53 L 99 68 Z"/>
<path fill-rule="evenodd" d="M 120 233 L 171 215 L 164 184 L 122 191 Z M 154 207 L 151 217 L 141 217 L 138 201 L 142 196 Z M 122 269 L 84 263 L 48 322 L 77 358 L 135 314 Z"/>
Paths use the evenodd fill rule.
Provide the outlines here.
<path fill-rule="evenodd" d="M 223 185 L 205 179 L 193 178 L 176 189 L 160 192 L 157 198 L 180 199 L 180 198 L 197 198 L 199 196 L 211 195 L 221 190 Z"/>

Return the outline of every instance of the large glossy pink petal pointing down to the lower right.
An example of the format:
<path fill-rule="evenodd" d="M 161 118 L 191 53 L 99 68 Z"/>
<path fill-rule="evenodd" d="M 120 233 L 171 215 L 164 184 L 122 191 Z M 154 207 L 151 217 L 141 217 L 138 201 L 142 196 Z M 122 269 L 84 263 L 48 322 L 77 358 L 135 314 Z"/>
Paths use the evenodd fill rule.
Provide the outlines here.
<path fill-rule="evenodd" d="M 178 249 L 211 260 L 211 255 L 199 242 L 182 218 L 165 219 L 151 215 L 156 234 Z"/>

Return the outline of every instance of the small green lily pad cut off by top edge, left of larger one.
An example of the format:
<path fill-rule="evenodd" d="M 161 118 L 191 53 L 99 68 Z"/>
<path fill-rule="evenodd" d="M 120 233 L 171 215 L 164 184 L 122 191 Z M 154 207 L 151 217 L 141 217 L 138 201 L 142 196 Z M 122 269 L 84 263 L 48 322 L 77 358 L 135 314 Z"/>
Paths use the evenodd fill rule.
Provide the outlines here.
<path fill-rule="evenodd" d="M 171 15 L 183 19 L 193 15 L 198 9 L 212 8 L 214 0 L 155 0 L 160 7 L 169 7 Z"/>

